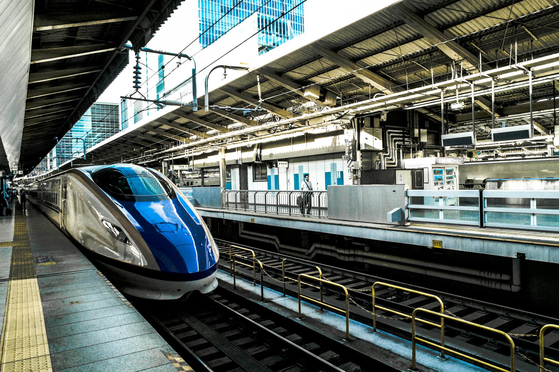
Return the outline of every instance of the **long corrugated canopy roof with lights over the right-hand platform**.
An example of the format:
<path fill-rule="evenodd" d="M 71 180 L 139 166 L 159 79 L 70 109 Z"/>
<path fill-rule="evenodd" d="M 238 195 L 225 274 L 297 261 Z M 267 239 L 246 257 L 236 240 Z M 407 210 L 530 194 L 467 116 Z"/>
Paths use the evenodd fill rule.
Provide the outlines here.
<path fill-rule="evenodd" d="M 166 107 L 159 117 L 150 115 L 150 120 L 98 144 L 87 160 L 73 164 L 149 164 L 170 153 L 215 151 L 247 138 L 308 131 L 381 110 L 414 109 L 440 123 L 440 90 L 448 102 L 456 85 L 465 106 L 449 114 L 448 131 L 471 130 L 472 108 L 465 99 L 471 83 L 476 89 L 477 136 L 487 138 L 492 78 L 498 78 L 496 115 L 510 117 L 509 123 L 525 124 L 529 69 L 535 69 L 537 108 L 553 109 L 553 81 L 559 76 L 558 10 L 552 0 L 395 3 L 210 91 L 211 105 L 254 108 L 258 75 L 267 115 Z M 198 98 L 201 102 L 203 97 Z M 425 102 L 431 103 L 420 104 Z M 534 120 L 534 128 L 542 133 L 549 133 L 552 125 L 551 112 Z"/>

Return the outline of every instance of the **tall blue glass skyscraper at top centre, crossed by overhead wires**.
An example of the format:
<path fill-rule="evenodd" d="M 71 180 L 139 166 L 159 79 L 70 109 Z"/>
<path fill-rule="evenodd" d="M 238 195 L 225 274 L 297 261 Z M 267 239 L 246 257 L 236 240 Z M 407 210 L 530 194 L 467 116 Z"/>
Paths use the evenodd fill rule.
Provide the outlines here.
<path fill-rule="evenodd" d="M 282 13 L 293 7 L 282 17 Z M 233 26 L 256 13 L 260 30 L 258 51 L 259 54 L 265 53 L 305 31 L 303 7 L 301 0 L 198 0 L 200 44 L 202 47 L 212 44 Z"/>

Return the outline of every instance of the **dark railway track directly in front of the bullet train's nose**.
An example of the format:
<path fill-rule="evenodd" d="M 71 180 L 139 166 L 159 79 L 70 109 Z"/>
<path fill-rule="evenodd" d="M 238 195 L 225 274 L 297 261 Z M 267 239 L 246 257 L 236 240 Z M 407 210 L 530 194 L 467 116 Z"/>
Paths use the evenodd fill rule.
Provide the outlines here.
<path fill-rule="evenodd" d="M 223 288 L 207 295 L 193 294 L 187 302 L 172 302 L 164 310 L 157 304 L 140 305 L 139 310 L 172 339 L 198 372 L 359 372 L 379 365 Z M 391 370 L 383 366 L 383 371 Z"/>

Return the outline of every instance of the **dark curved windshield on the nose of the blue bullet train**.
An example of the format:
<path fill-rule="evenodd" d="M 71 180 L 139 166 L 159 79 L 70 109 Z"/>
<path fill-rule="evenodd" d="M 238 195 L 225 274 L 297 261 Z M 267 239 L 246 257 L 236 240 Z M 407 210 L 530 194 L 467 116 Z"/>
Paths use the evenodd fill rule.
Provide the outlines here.
<path fill-rule="evenodd" d="M 126 176 L 115 169 L 105 169 L 94 172 L 92 177 L 103 191 L 121 201 L 158 201 L 175 196 L 165 181 L 151 175 Z"/>

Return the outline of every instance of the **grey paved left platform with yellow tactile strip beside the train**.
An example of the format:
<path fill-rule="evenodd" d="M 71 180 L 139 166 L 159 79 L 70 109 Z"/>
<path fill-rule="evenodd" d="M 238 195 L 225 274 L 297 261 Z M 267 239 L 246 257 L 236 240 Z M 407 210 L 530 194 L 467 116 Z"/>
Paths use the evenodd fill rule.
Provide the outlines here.
<path fill-rule="evenodd" d="M 191 370 L 27 203 L 0 217 L 0 371 Z"/>

